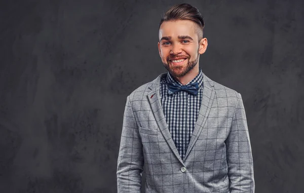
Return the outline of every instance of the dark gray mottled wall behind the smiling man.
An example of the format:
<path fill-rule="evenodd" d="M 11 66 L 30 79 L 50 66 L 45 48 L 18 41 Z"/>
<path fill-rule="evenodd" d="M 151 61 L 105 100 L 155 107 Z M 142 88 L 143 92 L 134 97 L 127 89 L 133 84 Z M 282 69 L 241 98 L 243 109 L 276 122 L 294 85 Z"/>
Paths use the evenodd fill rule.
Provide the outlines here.
<path fill-rule="evenodd" d="M 0 192 L 116 192 L 126 97 L 166 72 L 161 15 L 179 1 L 0 3 Z M 303 192 L 304 2 L 188 1 L 200 67 L 242 94 L 256 192 Z"/>

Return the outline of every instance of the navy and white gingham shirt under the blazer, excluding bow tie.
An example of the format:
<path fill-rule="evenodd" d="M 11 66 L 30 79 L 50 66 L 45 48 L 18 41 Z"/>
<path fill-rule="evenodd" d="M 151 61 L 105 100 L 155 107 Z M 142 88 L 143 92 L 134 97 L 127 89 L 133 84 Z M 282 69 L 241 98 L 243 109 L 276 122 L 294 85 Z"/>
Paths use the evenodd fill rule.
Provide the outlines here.
<path fill-rule="evenodd" d="M 169 95 L 167 87 L 168 82 L 182 85 L 176 81 L 169 72 L 160 82 L 160 95 L 165 118 L 172 139 L 182 160 L 185 157 L 195 123 L 198 119 L 203 98 L 203 72 L 202 68 L 199 69 L 199 74 L 192 81 L 186 84 L 188 85 L 195 82 L 199 84 L 199 92 L 197 96 L 186 91 L 179 91 Z"/>

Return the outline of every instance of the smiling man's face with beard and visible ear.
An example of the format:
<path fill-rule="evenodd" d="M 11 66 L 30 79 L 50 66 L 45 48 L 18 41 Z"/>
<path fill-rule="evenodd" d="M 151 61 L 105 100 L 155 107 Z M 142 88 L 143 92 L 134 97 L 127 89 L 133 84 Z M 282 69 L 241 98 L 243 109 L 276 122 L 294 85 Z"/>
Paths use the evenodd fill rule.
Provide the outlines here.
<path fill-rule="evenodd" d="M 198 40 L 198 27 L 191 20 L 165 21 L 159 30 L 158 48 L 166 69 L 175 77 L 192 70 L 207 47 L 207 39 Z"/>

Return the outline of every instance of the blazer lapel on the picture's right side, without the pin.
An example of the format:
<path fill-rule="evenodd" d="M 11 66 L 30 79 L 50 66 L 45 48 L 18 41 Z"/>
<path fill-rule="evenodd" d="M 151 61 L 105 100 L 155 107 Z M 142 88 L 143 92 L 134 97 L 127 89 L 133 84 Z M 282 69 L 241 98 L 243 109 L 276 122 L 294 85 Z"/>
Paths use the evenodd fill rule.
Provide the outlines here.
<path fill-rule="evenodd" d="M 201 107 L 200 107 L 200 111 L 199 111 L 199 116 L 196 121 L 194 131 L 192 133 L 184 159 L 187 158 L 187 156 L 188 156 L 189 152 L 191 151 L 191 149 L 193 148 L 195 142 L 198 140 L 198 137 L 201 134 L 202 129 L 208 118 L 208 115 L 209 115 L 209 112 L 210 112 L 210 109 L 211 109 L 211 106 L 213 103 L 213 99 L 214 99 L 215 90 L 214 90 L 213 81 L 210 80 L 204 73 L 203 73 L 203 81 L 204 81 L 203 99 L 202 99 L 202 103 L 201 103 Z"/>

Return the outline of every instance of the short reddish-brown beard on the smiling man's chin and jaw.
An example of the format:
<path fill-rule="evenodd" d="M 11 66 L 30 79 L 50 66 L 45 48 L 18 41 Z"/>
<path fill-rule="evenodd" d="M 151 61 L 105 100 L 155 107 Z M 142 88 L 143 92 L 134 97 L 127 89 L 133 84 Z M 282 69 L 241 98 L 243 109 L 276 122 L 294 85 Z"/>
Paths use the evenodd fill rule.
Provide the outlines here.
<path fill-rule="evenodd" d="M 188 62 L 187 62 L 186 66 L 170 65 L 169 57 L 167 58 L 167 63 L 163 63 L 163 64 L 171 75 L 173 75 L 174 77 L 180 78 L 180 77 L 186 75 L 189 71 L 191 71 L 197 65 L 197 63 L 199 61 L 199 56 L 200 56 L 200 54 L 198 53 L 197 58 L 193 61 L 190 61 L 190 58 L 187 57 L 186 59 L 188 59 Z"/>

